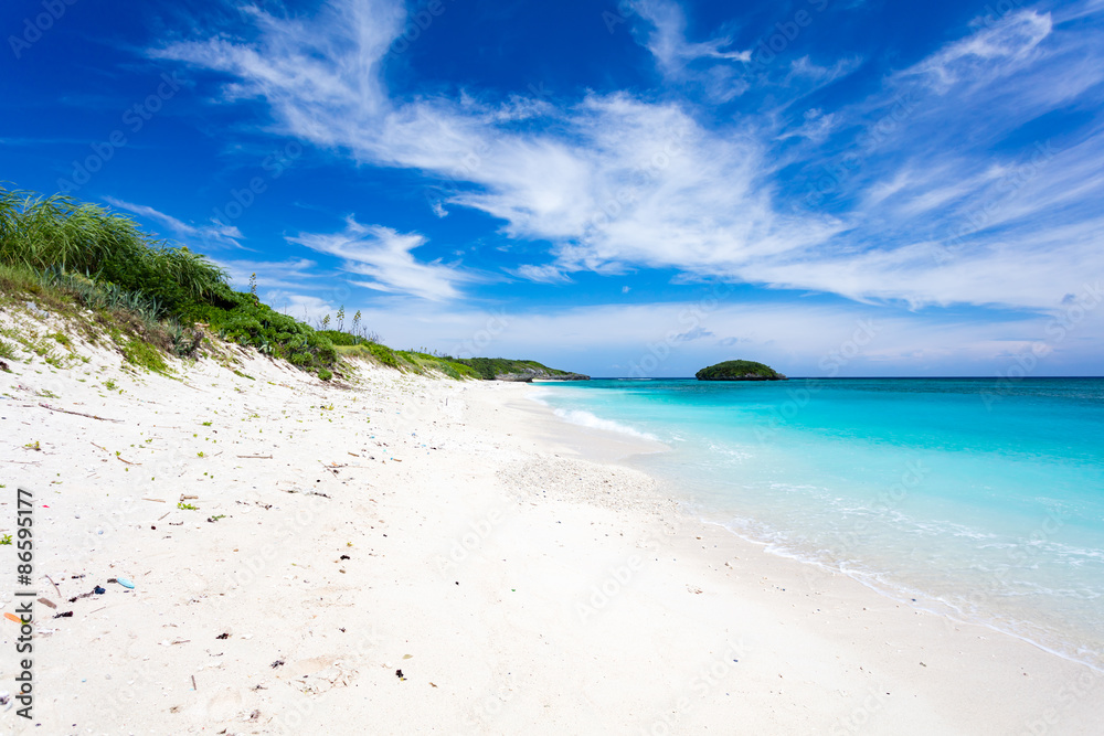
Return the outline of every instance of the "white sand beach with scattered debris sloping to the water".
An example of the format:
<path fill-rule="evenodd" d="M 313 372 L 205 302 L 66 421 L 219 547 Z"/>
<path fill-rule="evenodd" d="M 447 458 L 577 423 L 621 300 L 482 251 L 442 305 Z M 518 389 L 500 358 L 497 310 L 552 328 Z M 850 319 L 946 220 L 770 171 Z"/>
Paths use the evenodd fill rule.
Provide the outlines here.
<path fill-rule="evenodd" d="M 0 373 L 0 532 L 32 491 L 50 601 L 3 733 L 1101 733 L 1100 673 L 697 521 L 616 463 L 661 448 L 533 386 L 227 350 Z"/>

